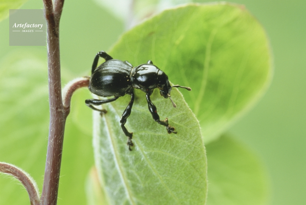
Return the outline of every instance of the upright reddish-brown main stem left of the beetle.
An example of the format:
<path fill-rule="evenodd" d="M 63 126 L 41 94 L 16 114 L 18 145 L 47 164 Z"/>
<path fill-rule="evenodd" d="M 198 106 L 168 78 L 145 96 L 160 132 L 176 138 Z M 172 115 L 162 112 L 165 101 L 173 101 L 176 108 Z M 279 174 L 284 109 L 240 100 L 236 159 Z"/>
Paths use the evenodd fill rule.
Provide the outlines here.
<path fill-rule="evenodd" d="M 50 125 L 47 159 L 41 195 L 42 205 L 56 205 L 62 161 L 65 121 L 69 110 L 64 109 L 61 90 L 59 52 L 59 20 L 64 0 L 43 0 L 47 20 L 47 52 L 49 78 Z"/>

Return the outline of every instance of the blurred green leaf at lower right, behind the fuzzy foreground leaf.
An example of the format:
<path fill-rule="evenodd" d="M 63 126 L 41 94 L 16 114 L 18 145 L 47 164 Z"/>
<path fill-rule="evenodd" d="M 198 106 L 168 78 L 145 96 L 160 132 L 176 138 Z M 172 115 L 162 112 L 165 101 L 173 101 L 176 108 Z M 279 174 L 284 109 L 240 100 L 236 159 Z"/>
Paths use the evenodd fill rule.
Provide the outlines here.
<path fill-rule="evenodd" d="M 267 174 L 257 156 L 227 135 L 206 150 L 207 205 L 267 204 Z"/>

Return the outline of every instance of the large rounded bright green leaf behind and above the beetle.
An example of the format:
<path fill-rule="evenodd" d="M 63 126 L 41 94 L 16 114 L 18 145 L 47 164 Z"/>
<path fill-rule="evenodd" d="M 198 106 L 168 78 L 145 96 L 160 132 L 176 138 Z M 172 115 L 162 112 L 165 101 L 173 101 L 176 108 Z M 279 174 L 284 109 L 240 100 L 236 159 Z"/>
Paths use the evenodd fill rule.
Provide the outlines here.
<path fill-rule="evenodd" d="M 222 134 L 271 80 L 267 35 L 243 6 L 191 4 L 166 10 L 125 33 L 110 52 L 133 65 L 152 60 L 200 121 L 204 142 Z"/>

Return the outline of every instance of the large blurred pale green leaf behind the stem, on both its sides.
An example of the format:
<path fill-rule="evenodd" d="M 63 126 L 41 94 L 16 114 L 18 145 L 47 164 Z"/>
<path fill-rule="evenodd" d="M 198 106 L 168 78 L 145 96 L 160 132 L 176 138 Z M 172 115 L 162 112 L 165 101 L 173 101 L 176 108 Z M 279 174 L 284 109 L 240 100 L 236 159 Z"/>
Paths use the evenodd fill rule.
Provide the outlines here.
<path fill-rule="evenodd" d="M 29 49 L 16 49 L 0 60 L 0 160 L 28 172 L 37 182 L 40 192 L 50 118 L 45 55 L 32 53 Z M 65 69 L 62 73 L 65 79 Z M 71 79 L 71 74 L 68 75 Z M 65 127 L 58 205 L 86 203 L 85 179 L 94 164 L 92 116 L 84 103 L 89 97 L 88 89 L 80 89 L 72 98 L 71 113 Z M 75 118 L 78 118 L 78 123 L 75 123 Z M 81 123 L 83 126 L 80 127 Z M 21 187 L 1 174 L 0 205 L 30 204 L 28 193 Z"/>

